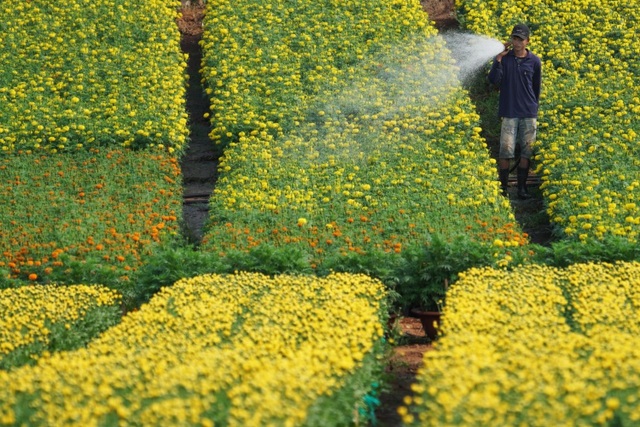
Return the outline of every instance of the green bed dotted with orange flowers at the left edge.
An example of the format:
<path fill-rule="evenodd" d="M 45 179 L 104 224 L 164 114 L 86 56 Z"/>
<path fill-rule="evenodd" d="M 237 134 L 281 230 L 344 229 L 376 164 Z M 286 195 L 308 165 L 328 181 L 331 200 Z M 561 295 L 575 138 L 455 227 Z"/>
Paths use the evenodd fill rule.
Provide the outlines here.
<path fill-rule="evenodd" d="M 1 157 L 0 282 L 127 282 L 179 232 L 181 193 L 160 150 Z"/>

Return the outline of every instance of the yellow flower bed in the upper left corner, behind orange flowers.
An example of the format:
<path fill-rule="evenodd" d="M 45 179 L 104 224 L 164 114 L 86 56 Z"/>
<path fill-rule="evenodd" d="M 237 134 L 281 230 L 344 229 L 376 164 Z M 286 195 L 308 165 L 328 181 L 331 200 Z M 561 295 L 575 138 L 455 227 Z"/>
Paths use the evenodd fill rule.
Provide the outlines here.
<path fill-rule="evenodd" d="M 3 0 L 0 153 L 180 149 L 188 135 L 177 0 Z"/>

